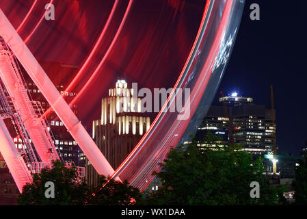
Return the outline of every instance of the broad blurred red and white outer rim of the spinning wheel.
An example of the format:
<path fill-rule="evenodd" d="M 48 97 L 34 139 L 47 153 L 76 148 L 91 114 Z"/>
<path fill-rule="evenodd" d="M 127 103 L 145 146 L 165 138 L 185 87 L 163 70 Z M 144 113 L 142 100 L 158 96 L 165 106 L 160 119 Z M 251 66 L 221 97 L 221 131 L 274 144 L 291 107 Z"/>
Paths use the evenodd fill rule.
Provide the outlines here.
<path fill-rule="evenodd" d="M 219 54 L 224 51 L 224 40 L 226 40 L 226 31 L 232 36 L 232 32 L 236 32 L 238 23 L 235 27 L 229 28 L 228 26 L 233 18 L 234 8 L 239 5 L 242 7 L 239 1 L 226 1 L 222 3 L 221 1 L 207 1 L 204 9 L 204 15 L 202 18 L 202 24 L 200 25 L 200 30 L 198 31 L 198 36 L 193 44 L 193 48 L 189 55 L 189 58 L 183 68 L 183 71 L 178 78 L 175 88 L 187 88 L 191 74 L 196 68 L 196 62 L 200 58 L 202 48 L 209 49 L 206 58 L 204 59 L 204 64 L 200 68 L 198 77 L 195 77 L 193 86 L 191 88 L 191 100 L 187 104 L 187 108 L 191 110 L 193 115 L 196 112 L 198 104 L 202 99 L 202 95 L 208 86 L 209 80 L 215 66 Z M 213 21 L 212 15 L 217 13 L 218 10 L 222 12 L 222 17 L 220 20 Z M 240 10 L 239 10 L 240 11 Z M 237 12 L 239 13 L 239 12 Z M 217 31 L 215 32 L 213 41 L 204 47 L 207 35 L 209 34 L 208 29 L 214 25 L 218 24 Z M 232 46 L 232 45 L 231 45 Z M 224 68 L 223 68 L 224 69 Z M 164 109 L 169 103 L 174 105 L 174 89 L 172 90 L 168 101 L 163 105 Z M 150 126 L 148 132 L 143 136 L 142 140 L 135 146 L 135 149 L 131 152 L 129 157 L 127 157 L 122 165 L 114 172 L 112 177 L 119 176 L 122 180 L 128 180 L 131 185 L 139 188 L 143 191 L 148 186 L 150 181 L 153 179 L 152 172 L 158 172 L 161 170 L 161 164 L 166 158 L 168 152 L 171 148 L 174 148 L 181 137 L 185 133 L 187 126 L 189 125 L 188 120 L 177 120 L 176 115 L 172 115 L 169 112 L 162 113 L 163 110 L 158 114 L 155 121 Z"/>

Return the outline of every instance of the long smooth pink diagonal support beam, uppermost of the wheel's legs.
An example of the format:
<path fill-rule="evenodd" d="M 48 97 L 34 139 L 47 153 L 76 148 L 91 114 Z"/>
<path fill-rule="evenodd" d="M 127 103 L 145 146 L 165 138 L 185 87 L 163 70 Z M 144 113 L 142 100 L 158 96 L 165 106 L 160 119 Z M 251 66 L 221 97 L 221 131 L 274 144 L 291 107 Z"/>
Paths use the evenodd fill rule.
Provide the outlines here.
<path fill-rule="evenodd" d="M 38 86 L 46 100 L 53 107 L 53 110 L 55 110 L 55 113 L 62 120 L 71 136 L 79 144 L 83 153 L 92 162 L 98 174 L 105 176 L 112 175 L 114 172 L 113 168 L 107 162 L 107 159 L 105 159 L 83 125 L 81 125 L 77 116 L 75 116 L 66 101 L 62 98 L 62 95 L 59 94 L 57 88 L 55 88 L 40 64 L 38 64 L 36 58 L 29 51 L 27 45 L 17 34 L 2 10 L 0 10 L 0 36 L 9 44 L 14 55 L 16 55 L 31 79 L 36 83 L 36 86 Z"/>

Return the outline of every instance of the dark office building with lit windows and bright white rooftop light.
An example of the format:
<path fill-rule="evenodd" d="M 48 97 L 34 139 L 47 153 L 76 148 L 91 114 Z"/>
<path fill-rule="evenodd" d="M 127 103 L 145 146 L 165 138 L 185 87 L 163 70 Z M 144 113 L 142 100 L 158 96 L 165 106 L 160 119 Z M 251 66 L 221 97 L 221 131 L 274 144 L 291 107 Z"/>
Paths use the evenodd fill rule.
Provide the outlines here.
<path fill-rule="evenodd" d="M 200 127 L 197 127 L 197 140 L 203 140 L 207 131 L 222 136 L 224 142 L 240 144 L 243 150 L 253 155 L 263 155 L 273 148 L 276 138 L 275 110 L 265 105 L 256 105 L 251 97 L 224 96 L 219 98 L 221 105 L 213 105 Z"/>

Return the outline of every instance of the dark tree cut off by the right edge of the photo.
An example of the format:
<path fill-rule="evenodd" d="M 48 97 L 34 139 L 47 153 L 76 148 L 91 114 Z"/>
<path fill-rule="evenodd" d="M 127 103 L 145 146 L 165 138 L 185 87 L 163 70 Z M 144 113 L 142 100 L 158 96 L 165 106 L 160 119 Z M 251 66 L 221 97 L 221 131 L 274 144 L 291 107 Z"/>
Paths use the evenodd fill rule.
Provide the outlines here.
<path fill-rule="evenodd" d="M 307 205 L 307 154 L 304 160 L 299 159 L 298 164 L 293 181 L 295 205 Z"/>

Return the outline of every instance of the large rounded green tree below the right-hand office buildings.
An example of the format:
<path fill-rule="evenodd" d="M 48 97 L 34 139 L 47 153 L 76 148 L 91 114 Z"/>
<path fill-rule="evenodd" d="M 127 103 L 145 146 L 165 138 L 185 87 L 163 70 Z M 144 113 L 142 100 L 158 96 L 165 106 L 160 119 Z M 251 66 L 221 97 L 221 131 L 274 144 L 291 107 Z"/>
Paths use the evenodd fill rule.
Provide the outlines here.
<path fill-rule="evenodd" d="M 198 145 L 207 144 L 200 150 Z M 212 146 L 215 144 L 215 146 Z M 151 193 L 155 205 L 277 205 L 282 188 L 268 185 L 262 160 L 239 146 L 222 144 L 209 133 L 204 142 L 193 141 L 173 149 L 158 176 L 163 188 Z M 260 185 L 260 198 L 250 197 L 250 183 Z"/>

